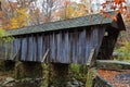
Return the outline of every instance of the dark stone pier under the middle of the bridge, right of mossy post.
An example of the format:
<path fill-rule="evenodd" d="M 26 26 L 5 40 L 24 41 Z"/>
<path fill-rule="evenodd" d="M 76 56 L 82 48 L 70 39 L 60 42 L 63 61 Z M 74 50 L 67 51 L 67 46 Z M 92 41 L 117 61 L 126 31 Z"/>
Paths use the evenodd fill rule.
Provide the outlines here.
<path fill-rule="evenodd" d="M 54 87 L 66 87 L 69 80 L 68 64 L 52 63 L 50 64 L 49 85 Z"/>

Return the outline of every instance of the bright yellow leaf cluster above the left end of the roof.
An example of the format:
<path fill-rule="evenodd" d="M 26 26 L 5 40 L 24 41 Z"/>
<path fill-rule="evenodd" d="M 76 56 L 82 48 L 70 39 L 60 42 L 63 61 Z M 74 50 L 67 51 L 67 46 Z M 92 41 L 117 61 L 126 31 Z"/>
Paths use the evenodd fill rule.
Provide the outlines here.
<path fill-rule="evenodd" d="M 18 9 L 17 14 L 14 17 L 10 18 L 11 28 L 20 28 L 27 26 L 27 18 L 29 18 L 29 14 L 26 9 Z"/>

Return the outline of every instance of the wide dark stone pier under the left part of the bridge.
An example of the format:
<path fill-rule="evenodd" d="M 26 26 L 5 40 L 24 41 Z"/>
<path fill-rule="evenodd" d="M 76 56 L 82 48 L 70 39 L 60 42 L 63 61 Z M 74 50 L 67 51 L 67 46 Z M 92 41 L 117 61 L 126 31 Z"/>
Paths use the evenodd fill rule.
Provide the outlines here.
<path fill-rule="evenodd" d="M 42 66 L 36 62 L 16 62 L 14 74 L 16 79 L 42 77 Z"/>

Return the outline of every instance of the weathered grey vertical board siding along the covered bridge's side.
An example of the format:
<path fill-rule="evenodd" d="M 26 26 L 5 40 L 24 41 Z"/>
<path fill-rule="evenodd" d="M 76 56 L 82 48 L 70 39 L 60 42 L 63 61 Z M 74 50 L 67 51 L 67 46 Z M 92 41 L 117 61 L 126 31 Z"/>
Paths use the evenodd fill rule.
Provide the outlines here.
<path fill-rule="evenodd" d="M 10 44 L 0 42 L 0 58 L 41 62 L 49 49 L 47 62 L 86 64 L 92 49 L 98 54 L 104 34 L 102 26 L 91 26 L 15 36 Z"/>

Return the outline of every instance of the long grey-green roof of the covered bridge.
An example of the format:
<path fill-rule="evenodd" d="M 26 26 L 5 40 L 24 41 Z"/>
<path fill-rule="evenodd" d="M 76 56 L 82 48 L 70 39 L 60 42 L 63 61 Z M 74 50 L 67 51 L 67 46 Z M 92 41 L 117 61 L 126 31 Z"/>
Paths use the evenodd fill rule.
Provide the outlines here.
<path fill-rule="evenodd" d="M 109 15 L 118 15 L 117 12 L 108 12 L 108 14 Z M 110 17 L 106 18 L 106 17 L 104 17 L 104 15 L 101 15 L 101 14 L 92 14 L 92 15 L 87 15 L 87 16 L 77 17 L 77 18 L 50 22 L 50 23 L 46 23 L 46 24 L 39 24 L 39 25 L 23 27 L 23 28 L 18 28 L 18 29 L 6 30 L 5 36 L 42 33 L 42 32 L 75 28 L 75 27 L 82 27 L 82 26 L 91 26 L 91 25 L 99 25 L 99 24 L 112 24 L 112 26 L 115 26 L 115 25 L 113 25 L 113 23 L 114 23 L 114 20 Z"/>

